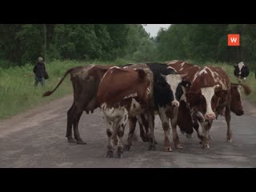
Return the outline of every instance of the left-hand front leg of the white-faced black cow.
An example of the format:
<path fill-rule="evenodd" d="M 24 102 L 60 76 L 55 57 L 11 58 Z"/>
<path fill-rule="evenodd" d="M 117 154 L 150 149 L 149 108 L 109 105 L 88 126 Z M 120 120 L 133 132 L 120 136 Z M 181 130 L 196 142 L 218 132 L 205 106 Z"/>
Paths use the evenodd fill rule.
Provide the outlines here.
<path fill-rule="evenodd" d="M 171 146 L 170 146 L 170 139 L 169 139 L 169 134 L 170 134 L 170 123 L 169 123 L 169 118 L 166 115 L 166 108 L 165 107 L 158 107 L 158 114 L 162 122 L 162 128 L 165 133 L 165 139 L 164 139 L 164 147 L 166 152 L 171 151 Z M 177 131 L 176 131 L 177 134 Z"/>

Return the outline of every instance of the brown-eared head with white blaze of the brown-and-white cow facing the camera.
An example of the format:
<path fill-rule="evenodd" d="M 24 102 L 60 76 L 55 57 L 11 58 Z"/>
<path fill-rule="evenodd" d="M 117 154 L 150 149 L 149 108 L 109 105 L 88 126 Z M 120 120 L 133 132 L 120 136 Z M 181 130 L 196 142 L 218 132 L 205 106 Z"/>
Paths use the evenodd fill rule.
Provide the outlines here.
<path fill-rule="evenodd" d="M 186 100 L 190 108 L 195 108 L 201 113 L 202 118 L 208 121 L 214 120 L 218 102 L 226 98 L 227 90 L 222 90 L 219 85 L 202 87 L 198 92 L 186 93 Z"/>

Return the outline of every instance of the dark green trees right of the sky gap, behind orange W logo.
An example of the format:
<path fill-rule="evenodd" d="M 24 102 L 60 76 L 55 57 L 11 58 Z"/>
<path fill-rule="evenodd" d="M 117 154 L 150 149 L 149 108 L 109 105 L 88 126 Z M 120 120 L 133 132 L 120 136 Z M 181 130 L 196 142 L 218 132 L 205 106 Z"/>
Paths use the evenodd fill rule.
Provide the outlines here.
<path fill-rule="evenodd" d="M 241 46 L 227 46 L 227 34 L 240 34 Z M 159 31 L 158 58 L 232 64 L 255 62 L 255 35 L 254 24 L 175 24 Z"/>

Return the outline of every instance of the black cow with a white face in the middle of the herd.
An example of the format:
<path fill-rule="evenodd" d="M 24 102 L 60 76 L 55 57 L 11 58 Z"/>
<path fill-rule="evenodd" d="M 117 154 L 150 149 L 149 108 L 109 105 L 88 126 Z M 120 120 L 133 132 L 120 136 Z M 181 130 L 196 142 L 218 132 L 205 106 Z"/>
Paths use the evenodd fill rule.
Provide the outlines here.
<path fill-rule="evenodd" d="M 185 87 L 189 82 L 183 81 L 185 75 L 178 74 L 174 69 L 164 63 L 146 63 L 154 74 L 154 106 L 158 112 L 164 130 L 164 146 L 166 151 L 171 151 L 170 147 L 170 123 L 173 130 L 173 141 L 176 148 L 182 148 L 177 134 L 177 116 L 179 101 L 185 99 Z M 141 123 L 141 122 L 139 122 Z M 129 133 L 132 137 L 133 133 Z M 131 138 L 127 140 L 126 149 L 131 146 Z"/>

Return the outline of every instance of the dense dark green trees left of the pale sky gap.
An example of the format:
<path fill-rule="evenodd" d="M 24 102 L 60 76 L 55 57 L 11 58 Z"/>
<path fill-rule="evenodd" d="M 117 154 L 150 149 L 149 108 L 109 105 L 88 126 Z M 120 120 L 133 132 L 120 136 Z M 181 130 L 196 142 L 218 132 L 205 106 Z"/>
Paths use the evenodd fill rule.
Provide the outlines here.
<path fill-rule="evenodd" d="M 18 66 L 39 56 L 114 61 L 131 58 L 142 38 L 149 35 L 140 24 L 1 24 L 0 60 Z"/>

